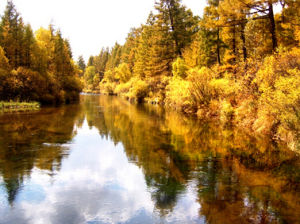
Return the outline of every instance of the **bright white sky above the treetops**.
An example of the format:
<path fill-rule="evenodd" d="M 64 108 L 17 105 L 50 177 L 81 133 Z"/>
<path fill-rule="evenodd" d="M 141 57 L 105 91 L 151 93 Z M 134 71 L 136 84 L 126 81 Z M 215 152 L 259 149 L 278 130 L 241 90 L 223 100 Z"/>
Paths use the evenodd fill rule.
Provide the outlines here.
<path fill-rule="evenodd" d="M 3 15 L 6 0 L 0 0 Z M 98 55 L 102 47 L 125 42 L 130 28 L 145 23 L 155 0 L 14 0 L 17 11 L 33 30 L 53 24 L 71 43 L 73 58 Z M 206 0 L 182 0 L 201 15 Z"/>

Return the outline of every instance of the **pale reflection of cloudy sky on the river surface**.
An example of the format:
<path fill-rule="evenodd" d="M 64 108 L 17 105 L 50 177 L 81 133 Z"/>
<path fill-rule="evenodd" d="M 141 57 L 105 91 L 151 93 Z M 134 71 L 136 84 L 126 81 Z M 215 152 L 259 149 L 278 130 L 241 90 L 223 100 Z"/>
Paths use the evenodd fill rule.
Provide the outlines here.
<path fill-rule="evenodd" d="M 1 223 L 119 223 L 160 220 L 141 168 L 130 163 L 122 144 L 102 139 L 87 122 L 78 130 L 70 155 L 50 177 L 34 168 L 18 193 L 14 207 L 1 199 Z M 198 218 L 196 182 L 182 192 L 163 222 L 182 223 Z M 1 192 L 0 195 L 4 195 Z M 132 221 L 134 220 L 134 221 Z"/>

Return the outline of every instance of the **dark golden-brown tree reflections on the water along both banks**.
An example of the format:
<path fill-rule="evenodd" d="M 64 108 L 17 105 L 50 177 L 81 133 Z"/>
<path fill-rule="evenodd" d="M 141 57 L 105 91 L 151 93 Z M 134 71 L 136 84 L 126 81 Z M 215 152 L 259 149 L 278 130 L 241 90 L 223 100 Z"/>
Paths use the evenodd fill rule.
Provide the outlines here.
<path fill-rule="evenodd" d="M 163 222 L 191 186 L 199 223 L 300 222 L 297 153 L 241 130 L 108 96 L 0 116 L 0 174 L 10 204 L 33 169 L 60 172 L 85 120 L 102 138 L 121 143 L 128 161 L 142 170 L 153 212 Z"/>

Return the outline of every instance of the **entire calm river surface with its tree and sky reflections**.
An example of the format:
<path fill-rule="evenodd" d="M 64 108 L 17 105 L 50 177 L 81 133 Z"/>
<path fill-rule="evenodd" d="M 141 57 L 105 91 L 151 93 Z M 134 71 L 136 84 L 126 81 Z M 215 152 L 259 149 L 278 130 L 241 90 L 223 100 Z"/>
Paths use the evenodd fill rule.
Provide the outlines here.
<path fill-rule="evenodd" d="M 300 223 L 300 159 L 230 126 L 82 95 L 0 114 L 0 223 Z"/>

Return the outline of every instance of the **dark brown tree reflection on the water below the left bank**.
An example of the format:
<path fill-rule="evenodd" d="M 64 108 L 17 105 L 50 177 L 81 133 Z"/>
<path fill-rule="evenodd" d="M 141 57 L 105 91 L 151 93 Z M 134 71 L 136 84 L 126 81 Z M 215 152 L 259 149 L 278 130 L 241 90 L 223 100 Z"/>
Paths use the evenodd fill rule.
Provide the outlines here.
<path fill-rule="evenodd" d="M 79 116 L 79 105 L 0 116 L 0 174 L 11 205 L 34 167 L 49 175 L 60 170 L 69 150 L 63 144 L 76 134 Z"/>

